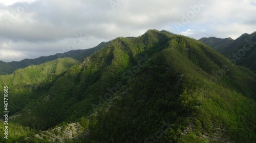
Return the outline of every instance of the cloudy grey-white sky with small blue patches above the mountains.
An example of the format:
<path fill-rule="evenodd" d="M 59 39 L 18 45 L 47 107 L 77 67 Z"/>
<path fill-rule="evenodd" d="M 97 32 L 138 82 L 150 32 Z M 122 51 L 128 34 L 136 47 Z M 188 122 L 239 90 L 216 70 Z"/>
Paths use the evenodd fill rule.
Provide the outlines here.
<path fill-rule="evenodd" d="M 236 39 L 256 31 L 256 0 L 0 0 L 0 61 L 87 49 L 149 29 Z"/>

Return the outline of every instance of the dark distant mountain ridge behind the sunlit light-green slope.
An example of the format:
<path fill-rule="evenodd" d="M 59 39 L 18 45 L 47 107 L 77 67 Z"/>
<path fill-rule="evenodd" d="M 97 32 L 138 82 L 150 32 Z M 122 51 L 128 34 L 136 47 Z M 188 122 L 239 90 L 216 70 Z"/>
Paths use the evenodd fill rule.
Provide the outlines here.
<path fill-rule="evenodd" d="M 97 45 L 94 48 L 90 49 L 84 49 L 84 50 L 71 50 L 65 53 L 57 53 L 55 55 L 50 55 L 50 56 L 41 56 L 40 58 L 36 59 L 25 59 L 19 62 L 3 62 L 0 61 L 0 75 L 7 75 L 11 74 L 13 71 L 16 69 L 20 68 L 25 68 L 30 65 L 39 65 L 48 61 L 53 61 L 58 58 L 65 58 L 65 57 L 70 57 L 73 59 L 76 59 L 78 61 L 82 61 L 84 58 L 87 56 L 91 55 L 92 53 L 98 51 L 105 45 L 107 45 L 109 42 L 101 42 L 99 45 Z"/>

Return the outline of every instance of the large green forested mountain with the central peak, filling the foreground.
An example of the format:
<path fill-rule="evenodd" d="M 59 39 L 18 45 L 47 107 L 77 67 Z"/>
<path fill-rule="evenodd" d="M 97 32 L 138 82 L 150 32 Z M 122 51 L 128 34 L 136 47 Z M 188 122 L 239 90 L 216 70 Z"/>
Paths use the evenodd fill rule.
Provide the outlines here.
<path fill-rule="evenodd" d="M 256 73 L 195 39 L 157 30 L 119 37 L 46 77 L 0 76 L 10 91 L 1 142 L 256 141 Z"/>

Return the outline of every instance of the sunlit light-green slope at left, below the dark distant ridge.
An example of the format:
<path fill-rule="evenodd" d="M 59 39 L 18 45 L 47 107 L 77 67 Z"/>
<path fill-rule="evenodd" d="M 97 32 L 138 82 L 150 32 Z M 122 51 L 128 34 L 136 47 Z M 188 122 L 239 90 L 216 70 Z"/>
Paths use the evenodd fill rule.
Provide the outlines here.
<path fill-rule="evenodd" d="M 40 94 L 31 94 L 32 90 L 39 87 L 44 88 L 46 81 L 54 80 L 77 63 L 78 61 L 72 58 L 60 58 L 41 65 L 31 65 L 24 69 L 18 69 L 10 75 L 0 76 L 0 86 L 8 86 L 8 88 L 11 89 L 9 90 L 9 95 L 14 97 L 9 98 L 9 102 L 12 104 L 12 106 L 8 108 L 10 114 L 12 115 L 23 109 L 28 102 L 31 102 L 32 99 L 35 99 L 38 94 Z M 2 90 L 3 89 L 1 89 L 1 91 Z M 3 99 L 1 99 L 1 101 L 2 100 Z M 3 103 L 1 102 L 0 105 L 2 106 Z M 3 111 L 3 108 L 0 110 Z"/>

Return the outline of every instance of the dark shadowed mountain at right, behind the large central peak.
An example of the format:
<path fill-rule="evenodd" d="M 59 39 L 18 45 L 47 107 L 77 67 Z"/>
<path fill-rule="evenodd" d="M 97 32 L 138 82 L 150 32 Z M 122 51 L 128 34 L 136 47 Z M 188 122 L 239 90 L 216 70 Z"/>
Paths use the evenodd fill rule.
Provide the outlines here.
<path fill-rule="evenodd" d="M 236 40 L 210 37 L 199 41 L 225 55 L 233 64 L 256 72 L 256 32 L 243 34 Z"/>

